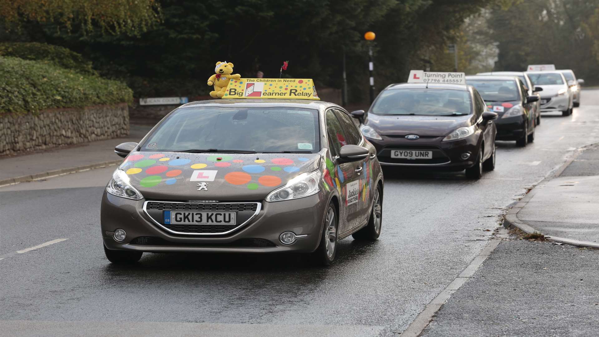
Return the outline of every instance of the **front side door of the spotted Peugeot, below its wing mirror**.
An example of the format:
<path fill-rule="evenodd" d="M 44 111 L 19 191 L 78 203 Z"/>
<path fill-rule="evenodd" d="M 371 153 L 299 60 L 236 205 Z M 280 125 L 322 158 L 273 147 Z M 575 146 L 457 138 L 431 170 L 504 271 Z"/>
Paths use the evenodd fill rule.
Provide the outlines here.
<path fill-rule="evenodd" d="M 327 163 L 327 169 L 331 176 L 334 188 L 339 192 L 339 228 L 338 233 L 344 233 L 352 228 L 355 222 L 357 211 L 357 203 L 347 203 L 348 190 L 347 185 L 352 183 L 352 188 L 349 192 L 355 192 L 355 183 L 353 183 L 355 173 L 355 163 L 344 163 L 339 159 L 339 151 L 342 146 L 347 145 L 346 131 L 341 127 L 341 123 L 335 116 L 334 109 L 329 109 L 325 113 L 326 119 L 326 136 L 329 143 L 329 151 L 331 152 L 331 163 Z M 353 195 L 352 195 L 353 197 Z"/>

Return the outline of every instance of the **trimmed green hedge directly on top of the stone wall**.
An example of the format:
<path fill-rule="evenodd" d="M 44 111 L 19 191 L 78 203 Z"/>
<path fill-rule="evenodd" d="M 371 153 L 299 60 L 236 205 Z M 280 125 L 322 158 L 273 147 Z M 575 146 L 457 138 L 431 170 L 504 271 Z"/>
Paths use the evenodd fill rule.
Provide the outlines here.
<path fill-rule="evenodd" d="M 0 56 L 0 113 L 132 101 L 133 92 L 122 82 L 82 74 L 46 61 Z"/>

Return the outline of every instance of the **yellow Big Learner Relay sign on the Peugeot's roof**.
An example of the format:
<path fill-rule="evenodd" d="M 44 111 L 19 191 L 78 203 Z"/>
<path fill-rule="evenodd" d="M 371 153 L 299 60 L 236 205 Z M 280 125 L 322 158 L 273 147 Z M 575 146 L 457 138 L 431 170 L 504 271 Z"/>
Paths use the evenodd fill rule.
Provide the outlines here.
<path fill-rule="evenodd" d="M 311 79 L 231 80 L 222 98 L 285 98 L 320 100 Z"/>

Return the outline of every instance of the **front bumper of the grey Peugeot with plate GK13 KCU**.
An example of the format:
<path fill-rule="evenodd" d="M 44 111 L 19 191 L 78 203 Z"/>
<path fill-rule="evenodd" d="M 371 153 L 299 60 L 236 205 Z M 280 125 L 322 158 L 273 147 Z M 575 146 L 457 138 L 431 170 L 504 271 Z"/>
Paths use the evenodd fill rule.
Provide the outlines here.
<path fill-rule="evenodd" d="M 328 200 L 320 192 L 310 197 L 268 203 L 231 233 L 223 235 L 189 235 L 168 233 L 143 210 L 145 200 L 129 200 L 104 192 L 101 207 L 101 230 L 108 249 L 142 252 L 313 252 L 319 245 Z M 112 234 L 117 228 L 127 237 L 117 242 Z M 292 245 L 283 245 L 279 236 L 285 231 L 305 235 Z"/>

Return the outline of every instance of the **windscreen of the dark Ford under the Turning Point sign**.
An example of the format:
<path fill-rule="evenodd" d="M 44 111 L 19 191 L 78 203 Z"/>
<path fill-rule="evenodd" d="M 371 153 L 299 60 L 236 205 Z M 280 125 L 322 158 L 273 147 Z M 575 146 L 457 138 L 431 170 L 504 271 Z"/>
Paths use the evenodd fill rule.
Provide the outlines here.
<path fill-rule="evenodd" d="M 451 89 L 388 89 L 370 110 L 375 115 L 470 115 L 470 92 Z"/>

